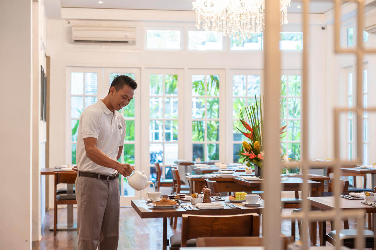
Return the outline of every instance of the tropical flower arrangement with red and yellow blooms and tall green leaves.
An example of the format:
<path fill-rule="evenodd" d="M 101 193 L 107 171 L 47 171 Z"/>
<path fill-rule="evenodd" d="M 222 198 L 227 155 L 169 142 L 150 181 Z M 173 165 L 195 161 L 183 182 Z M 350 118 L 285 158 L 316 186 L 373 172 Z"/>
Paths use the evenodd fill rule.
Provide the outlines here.
<path fill-rule="evenodd" d="M 241 129 L 238 129 L 244 136 L 246 136 L 250 141 L 243 141 L 242 150 L 239 151 L 240 160 L 243 162 L 247 162 L 247 166 L 251 166 L 251 163 L 257 165 L 258 167 L 262 167 L 262 163 L 264 162 L 264 150 L 262 147 L 262 135 L 264 133 L 263 130 L 263 119 L 262 119 L 262 105 L 261 105 L 261 96 L 258 102 L 257 97 L 256 104 L 251 105 L 245 108 L 245 115 L 239 109 L 241 124 L 246 129 L 246 132 L 243 132 Z M 284 134 L 286 131 L 283 131 L 287 126 L 283 126 L 280 128 L 280 134 Z M 282 151 L 283 153 L 283 151 Z M 287 159 L 287 154 L 282 155 L 282 160 Z"/>

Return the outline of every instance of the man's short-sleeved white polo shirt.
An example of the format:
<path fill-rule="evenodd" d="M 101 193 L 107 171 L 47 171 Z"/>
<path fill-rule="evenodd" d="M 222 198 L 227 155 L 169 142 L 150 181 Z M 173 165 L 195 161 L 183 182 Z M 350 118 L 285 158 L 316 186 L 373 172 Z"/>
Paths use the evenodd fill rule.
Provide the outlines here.
<path fill-rule="evenodd" d="M 84 138 L 97 138 L 97 148 L 116 160 L 119 147 L 124 145 L 125 119 L 114 110 L 111 112 L 102 100 L 88 106 L 80 115 L 77 136 L 76 162 L 79 171 L 89 171 L 104 175 L 113 174 L 114 169 L 92 162 L 85 151 Z"/>

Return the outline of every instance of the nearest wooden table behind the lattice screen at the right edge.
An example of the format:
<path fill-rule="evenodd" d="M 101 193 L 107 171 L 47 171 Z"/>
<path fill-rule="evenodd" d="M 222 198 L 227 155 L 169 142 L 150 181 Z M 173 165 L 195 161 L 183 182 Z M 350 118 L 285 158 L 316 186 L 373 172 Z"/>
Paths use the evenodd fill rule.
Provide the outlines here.
<path fill-rule="evenodd" d="M 319 208 L 324 211 L 335 209 L 335 197 L 308 197 L 307 198 L 312 207 Z M 340 197 L 340 207 L 343 210 L 364 209 L 366 213 L 376 213 L 376 207 L 361 203 L 364 200 L 349 200 Z M 321 223 L 320 245 L 326 244 L 326 223 Z M 373 215 L 373 225 L 376 225 L 376 215 Z M 373 237 L 376 239 L 376 230 L 373 232 Z M 376 249 L 376 241 L 374 240 L 374 249 Z"/>

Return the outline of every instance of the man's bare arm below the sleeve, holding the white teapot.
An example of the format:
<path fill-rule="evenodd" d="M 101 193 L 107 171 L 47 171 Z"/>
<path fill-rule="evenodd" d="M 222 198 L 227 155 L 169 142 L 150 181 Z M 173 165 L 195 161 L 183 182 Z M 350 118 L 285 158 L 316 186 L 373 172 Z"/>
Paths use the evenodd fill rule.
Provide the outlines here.
<path fill-rule="evenodd" d="M 84 138 L 83 142 L 85 144 L 85 151 L 86 156 L 92 160 L 94 163 L 104 166 L 106 168 L 112 168 L 117 170 L 121 175 L 129 176 L 132 174 L 132 171 L 135 170 L 132 166 L 129 164 L 122 164 L 120 162 L 117 162 L 115 160 L 112 160 L 110 157 L 108 157 L 105 153 L 103 153 L 99 148 L 97 148 L 97 139 L 96 138 Z M 123 146 L 121 146 L 121 149 L 123 149 Z M 120 147 L 119 147 L 119 152 Z M 119 155 L 117 159 L 119 159 Z"/>

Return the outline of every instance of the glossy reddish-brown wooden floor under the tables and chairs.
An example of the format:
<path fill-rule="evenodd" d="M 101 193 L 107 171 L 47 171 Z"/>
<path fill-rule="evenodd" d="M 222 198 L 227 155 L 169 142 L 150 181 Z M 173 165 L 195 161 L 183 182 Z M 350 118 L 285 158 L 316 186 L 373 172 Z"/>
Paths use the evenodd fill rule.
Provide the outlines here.
<path fill-rule="evenodd" d="M 284 209 L 283 213 L 291 214 L 292 209 Z M 74 222 L 76 222 L 76 208 L 74 208 Z M 58 223 L 67 222 L 67 209 L 58 209 Z M 168 219 L 168 222 L 169 219 Z M 58 231 L 56 237 L 53 231 L 49 231 L 53 223 L 53 210 L 46 213 L 42 224 L 42 240 L 36 242 L 33 250 L 73 250 L 77 249 L 76 231 Z M 350 228 L 354 228 L 353 221 L 349 221 Z M 169 224 L 167 226 L 167 236 L 179 233 L 181 228 L 181 218 L 178 219 L 177 230 L 173 230 Z M 327 232 L 330 231 L 330 224 L 327 223 Z M 284 235 L 291 235 L 291 221 L 284 220 L 281 223 L 281 232 Z M 296 237 L 299 239 L 298 228 L 296 227 Z M 317 232 L 318 235 L 318 232 Z M 162 249 L 162 219 L 141 219 L 133 208 L 120 208 L 120 235 L 118 250 L 139 249 L 156 250 Z M 317 240 L 317 245 L 319 245 Z M 331 244 L 327 243 L 327 246 Z"/>

